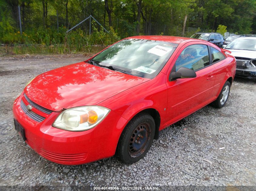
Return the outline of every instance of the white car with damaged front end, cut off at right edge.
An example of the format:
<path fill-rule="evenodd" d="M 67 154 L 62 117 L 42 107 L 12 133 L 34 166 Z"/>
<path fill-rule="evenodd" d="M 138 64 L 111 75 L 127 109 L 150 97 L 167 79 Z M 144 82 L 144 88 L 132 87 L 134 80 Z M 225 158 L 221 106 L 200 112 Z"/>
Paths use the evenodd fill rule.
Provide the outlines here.
<path fill-rule="evenodd" d="M 236 75 L 256 79 L 256 35 L 242 35 L 225 46 L 236 58 Z"/>

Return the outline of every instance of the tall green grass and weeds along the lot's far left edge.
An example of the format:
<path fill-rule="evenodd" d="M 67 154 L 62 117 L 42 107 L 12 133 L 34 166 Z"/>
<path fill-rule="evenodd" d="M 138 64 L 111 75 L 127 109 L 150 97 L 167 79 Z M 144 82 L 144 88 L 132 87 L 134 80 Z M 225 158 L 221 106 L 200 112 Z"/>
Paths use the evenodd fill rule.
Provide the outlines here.
<path fill-rule="evenodd" d="M 95 45 L 107 46 L 118 40 L 120 37 L 111 28 L 110 33 L 106 33 L 103 28 L 98 30 L 95 23 L 92 24 L 93 33 L 88 34 L 78 29 L 66 33 L 65 27 L 59 27 L 59 31 L 53 29 L 38 29 L 25 31 L 22 34 L 6 33 L 0 42 L 14 46 L 15 54 L 35 54 L 35 53 L 81 53 L 92 51 Z"/>

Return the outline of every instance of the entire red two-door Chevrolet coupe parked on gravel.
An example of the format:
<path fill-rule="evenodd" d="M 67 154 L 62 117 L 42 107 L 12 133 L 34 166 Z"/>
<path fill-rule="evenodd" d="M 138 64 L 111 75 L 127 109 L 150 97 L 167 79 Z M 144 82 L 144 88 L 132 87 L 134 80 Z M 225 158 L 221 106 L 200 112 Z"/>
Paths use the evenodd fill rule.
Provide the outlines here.
<path fill-rule="evenodd" d="M 207 41 L 129 37 L 30 81 L 13 105 L 15 129 L 55 163 L 116 154 L 131 164 L 160 130 L 211 102 L 223 107 L 235 69 L 234 57 Z"/>

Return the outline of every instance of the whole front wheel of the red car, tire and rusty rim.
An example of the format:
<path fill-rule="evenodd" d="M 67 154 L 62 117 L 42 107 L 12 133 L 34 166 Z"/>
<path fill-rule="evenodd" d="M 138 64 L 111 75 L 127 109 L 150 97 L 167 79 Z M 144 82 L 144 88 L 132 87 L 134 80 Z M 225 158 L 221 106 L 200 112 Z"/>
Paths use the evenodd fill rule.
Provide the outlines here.
<path fill-rule="evenodd" d="M 140 113 L 123 130 L 117 157 L 125 164 L 138 162 L 151 147 L 155 135 L 155 121 L 148 113 Z"/>

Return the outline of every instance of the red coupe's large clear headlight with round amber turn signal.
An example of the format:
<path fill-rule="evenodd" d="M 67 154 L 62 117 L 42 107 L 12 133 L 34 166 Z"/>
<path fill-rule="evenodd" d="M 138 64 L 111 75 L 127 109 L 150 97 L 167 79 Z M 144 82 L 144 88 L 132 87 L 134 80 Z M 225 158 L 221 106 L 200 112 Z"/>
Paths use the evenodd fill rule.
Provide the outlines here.
<path fill-rule="evenodd" d="M 101 106 L 75 107 L 62 111 L 52 126 L 67 131 L 85 131 L 95 127 L 105 116 L 109 109 Z"/>

